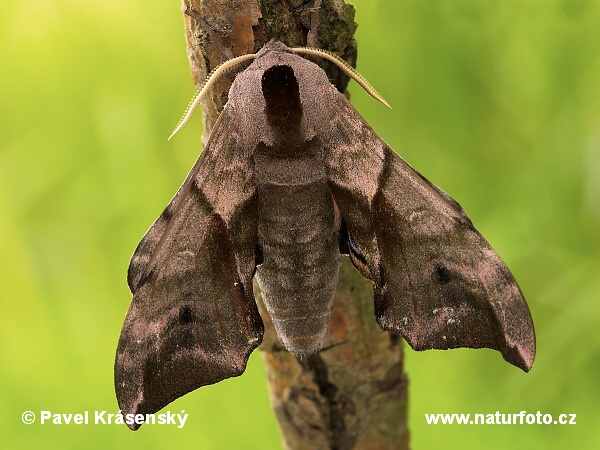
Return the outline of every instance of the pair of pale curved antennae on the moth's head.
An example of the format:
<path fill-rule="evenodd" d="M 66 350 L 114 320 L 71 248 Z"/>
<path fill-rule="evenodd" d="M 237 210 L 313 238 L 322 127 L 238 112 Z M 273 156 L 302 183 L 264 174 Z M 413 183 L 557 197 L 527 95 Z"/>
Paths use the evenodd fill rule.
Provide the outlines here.
<path fill-rule="evenodd" d="M 321 50 L 318 48 L 312 48 L 312 47 L 289 48 L 281 42 L 270 41 L 258 53 L 251 53 L 248 55 L 238 56 L 236 58 L 229 59 L 229 60 L 225 61 L 224 63 L 215 67 L 208 74 L 208 76 L 206 77 L 204 82 L 200 85 L 200 87 L 196 91 L 196 94 L 190 100 L 188 107 L 186 108 L 181 119 L 179 120 L 179 123 L 177 124 L 177 126 L 175 127 L 175 129 L 173 130 L 171 135 L 169 136 L 168 140 L 171 140 L 171 138 L 173 136 L 175 136 L 189 122 L 190 118 L 194 114 L 194 111 L 200 104 L 200 101 L 202 100 L 202 98 L 204 97 L 206 92 L 208 92 L 208 90 L 215 84 L 215 82 L 224 73 L 230 72 L 231 70 L 240 67 L 242 64 L 244 64 L 248 61 L 251 61 L 253 59 L 256 59 L 257 57 L 260 57 L 261 55 L 263 55 L 267 52 L 270 52 L 270 51 L 286 52 L 286 53 L 291 51 L 292 53 L 295 53 L 297 55 L 318 56 L 318 57 L 327 59 L 328 61 L 331 61 L 335 65 L 337 65 L 346 75 L 348 75 L 350 78 L 352 78 L 354 81 L 356 81 L 367 92 L 367 94 L 369 94 L 375 100 L 383 103 L 385 106 L 387 106 L 388 108 L 391 109 L 391 106 L 389 105 L 389 103 L 386 102 L 383 99 L 383 97 L 377 93 L 377 91 L 373 88 L 373 86 L 371 86 L 369 84 L 369 82 L 362 75 L 360 75 L 356 70 L 354 70 L 354 68 L 351 65 L 349 65 L 346 61 L 344 61 L 339 56 L 337 56 L 331 52 L 328 52 L 327 50 Z"/>

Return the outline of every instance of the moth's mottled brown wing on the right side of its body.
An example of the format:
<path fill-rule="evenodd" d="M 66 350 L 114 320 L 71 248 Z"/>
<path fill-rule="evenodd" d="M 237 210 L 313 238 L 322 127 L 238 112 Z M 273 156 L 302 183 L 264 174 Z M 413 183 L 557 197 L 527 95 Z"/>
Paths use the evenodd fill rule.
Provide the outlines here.
<path fill-rule="evenodd" d="M 535 334 L 509 269 L 450 196 L 411 168 L 346 99 L 326 139 L 330 189 L 382 329 L 415 350 L 493 348 L 528 371 Z"/>

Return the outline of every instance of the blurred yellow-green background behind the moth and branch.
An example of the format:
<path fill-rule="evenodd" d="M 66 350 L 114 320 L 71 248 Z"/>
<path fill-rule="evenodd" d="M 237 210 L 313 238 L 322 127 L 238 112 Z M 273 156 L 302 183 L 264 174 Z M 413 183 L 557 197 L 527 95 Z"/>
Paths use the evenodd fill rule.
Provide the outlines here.
<path fill-rule="evenodd" d="M 524 374 L 488 350 L 407 349 L 412 447 L 592 448 L 600 381 L 600 2 L 355 0 L 358 110 L 454 196 L 534 318 Z M 200 147 L 178 1 L 0 6 L 3 448 L 280 448 L 258 352 L 171 404 L 183 429 L 24 425 L 117 412 L 129 257 Z M 432 426 L 424 413 L 577 414 L 577 425 Z M 596 425 L 596 430 L 593 427 Z M 597 448 L 597 447 L 596 447 Z"/>

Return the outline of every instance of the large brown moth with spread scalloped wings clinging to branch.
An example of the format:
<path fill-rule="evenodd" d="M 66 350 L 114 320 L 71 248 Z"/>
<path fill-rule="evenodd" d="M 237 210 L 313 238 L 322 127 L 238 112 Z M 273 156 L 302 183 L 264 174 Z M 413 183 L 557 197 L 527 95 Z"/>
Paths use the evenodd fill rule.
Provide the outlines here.
<path fill-rule="evenodd" d="M 271 41 L 210 78 L 253 60 L 131 259 L 115 362 L 123 414 L 244 371 L 263 335 L 254 276 L 285 348 L 319 351 L 341 255 L 373 282 L 379 326 L 413 349 L 488 347 L 531 368 L 533 323 L 509 269 L 306 53 L 335 60 Z"/>

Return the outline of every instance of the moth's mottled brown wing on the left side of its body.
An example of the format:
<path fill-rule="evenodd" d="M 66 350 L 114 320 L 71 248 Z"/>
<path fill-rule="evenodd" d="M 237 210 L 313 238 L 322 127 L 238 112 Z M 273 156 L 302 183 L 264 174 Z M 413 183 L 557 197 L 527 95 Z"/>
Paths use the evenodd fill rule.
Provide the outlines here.
<path fill-rule="evenodd" d="M 252 293 L 252 159 L 229 115 L 222 113 L 184 184 L 131 259 L 133 300 L 115 361 L 123 414 L 154 413 L 200 386 L 240 375 L 262 340 Z"/>

